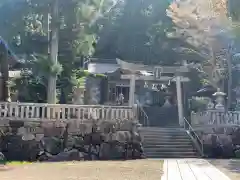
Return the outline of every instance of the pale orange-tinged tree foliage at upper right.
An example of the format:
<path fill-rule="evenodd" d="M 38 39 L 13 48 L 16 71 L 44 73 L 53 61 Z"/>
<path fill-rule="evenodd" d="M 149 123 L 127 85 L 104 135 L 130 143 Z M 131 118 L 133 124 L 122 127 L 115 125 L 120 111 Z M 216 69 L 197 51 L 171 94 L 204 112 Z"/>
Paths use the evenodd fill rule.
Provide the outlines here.
<path fill-rule="evenodd" d="M 226 10 L 225 0 L 214 0 L 211 6 L 207 1 L 174 1 L 167 11 L 175 24 L 172 36 L 188 45 L 180 46 L 179 52 L 191 54 L 187 60 L 204 82 L 222 90 L 226 79 L 231 79 L 232 21 Z"/>

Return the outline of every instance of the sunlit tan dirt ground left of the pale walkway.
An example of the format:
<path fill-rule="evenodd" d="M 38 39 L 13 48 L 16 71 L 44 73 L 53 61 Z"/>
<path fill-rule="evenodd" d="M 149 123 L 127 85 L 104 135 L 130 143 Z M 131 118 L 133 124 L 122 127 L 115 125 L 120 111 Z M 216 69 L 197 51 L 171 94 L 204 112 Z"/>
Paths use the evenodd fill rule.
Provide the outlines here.
<path fill-rule="evenodd" d="M 8 165 L 1 180 L 156 180 L 161 160 L 89 161 Z"/>

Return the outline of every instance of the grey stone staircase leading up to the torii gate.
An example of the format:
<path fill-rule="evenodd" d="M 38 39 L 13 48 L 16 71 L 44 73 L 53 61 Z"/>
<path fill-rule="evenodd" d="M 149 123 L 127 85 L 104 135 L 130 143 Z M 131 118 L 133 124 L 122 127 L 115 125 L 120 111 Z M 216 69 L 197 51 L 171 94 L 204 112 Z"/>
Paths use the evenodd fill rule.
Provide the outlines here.
<path fill-rule="evenodd" d="M 199 157 L 191 138 L 182 128 L 141 127 L 140 135 L 147 158 Z"/>

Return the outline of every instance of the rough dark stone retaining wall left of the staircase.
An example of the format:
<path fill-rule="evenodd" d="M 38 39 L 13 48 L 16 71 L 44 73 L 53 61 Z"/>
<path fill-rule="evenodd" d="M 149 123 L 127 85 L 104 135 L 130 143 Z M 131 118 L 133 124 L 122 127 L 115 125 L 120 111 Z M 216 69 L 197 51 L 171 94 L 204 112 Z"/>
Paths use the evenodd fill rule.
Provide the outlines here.
<path fill-rule="evenodd" d="M 1 121 L 0 152 L 10 161 L 142 158 L 137 123 Z"/>

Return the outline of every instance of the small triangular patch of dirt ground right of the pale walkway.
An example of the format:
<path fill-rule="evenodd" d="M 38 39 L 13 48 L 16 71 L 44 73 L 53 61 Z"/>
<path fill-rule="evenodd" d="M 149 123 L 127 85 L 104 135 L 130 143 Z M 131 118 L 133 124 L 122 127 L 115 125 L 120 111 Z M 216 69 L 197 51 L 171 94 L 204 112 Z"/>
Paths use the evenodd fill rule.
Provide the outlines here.
<path fill-rule="evenodd" d="M 215 165 L 231 180 L 240 180 L 240 160 L 224 159 L 224 160 L 209 160 L 209 162 Z"/>

